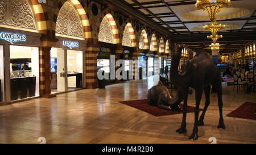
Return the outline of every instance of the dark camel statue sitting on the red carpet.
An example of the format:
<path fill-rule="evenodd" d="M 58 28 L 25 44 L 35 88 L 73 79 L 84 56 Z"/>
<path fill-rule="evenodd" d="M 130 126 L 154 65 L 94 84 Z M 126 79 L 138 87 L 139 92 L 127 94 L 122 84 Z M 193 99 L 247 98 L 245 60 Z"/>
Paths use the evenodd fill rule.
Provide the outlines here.
<path fill-rule="evenodd" d="M 181 88 L 178 88 L 177 95 L 174 98 L 172 93 L 170 93 L 166 86 L 163 85 L 161 81 L 158 82 L 158 85 L 153 86 L 148 90 L 147 93 L 147 103 L 151 106 L 158 106 L 166 110 L 179 110 L 179 104 L 183 100 L 181 94 Z M 190 89 L 189 94 L 192 94 Z"/>

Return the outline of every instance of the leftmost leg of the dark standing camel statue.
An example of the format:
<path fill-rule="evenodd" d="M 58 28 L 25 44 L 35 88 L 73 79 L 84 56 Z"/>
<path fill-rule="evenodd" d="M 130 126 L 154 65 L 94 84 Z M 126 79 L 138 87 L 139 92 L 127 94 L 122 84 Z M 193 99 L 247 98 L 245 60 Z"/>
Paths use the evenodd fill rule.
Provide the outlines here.
<path fill-rule="evenodd" d="M 187 116 L 187 107 L 188 107 L 188 88 L 182 88 L 182 97 L 183 97 L 183 118 L 181 127 L 176 130 L 178 133 L 185 133 L 187 132 L 186 129 L 186 116 Z"/>

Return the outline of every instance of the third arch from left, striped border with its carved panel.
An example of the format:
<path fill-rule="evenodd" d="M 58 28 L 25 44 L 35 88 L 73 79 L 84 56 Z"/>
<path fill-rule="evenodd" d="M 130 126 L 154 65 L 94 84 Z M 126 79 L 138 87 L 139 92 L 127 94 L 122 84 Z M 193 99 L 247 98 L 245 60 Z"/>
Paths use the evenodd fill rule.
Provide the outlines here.
<path fill-rule="evenodd" d="M 100 29 L 98 32 L 98 41 L 112 44 L 119 43 L 117 24 L 115 24 L 115 20 L 110 13 L 106 14 L 101 20 Z"/>

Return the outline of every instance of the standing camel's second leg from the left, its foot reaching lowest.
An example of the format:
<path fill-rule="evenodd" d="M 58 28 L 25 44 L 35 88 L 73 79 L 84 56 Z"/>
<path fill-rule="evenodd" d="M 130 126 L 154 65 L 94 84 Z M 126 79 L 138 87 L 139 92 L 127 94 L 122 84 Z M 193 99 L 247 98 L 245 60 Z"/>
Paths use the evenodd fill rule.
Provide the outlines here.
<path fill-rule="evenodd" d="M 194 123 L 192 135 L 189 136 L 189 139 L 193 139 L 193 140 L 198 139 L 198 134 L 197 134 L 197 132 L 198 132 L 198 115 L 199 115 L 199 105 L 200 105 L 202 93 L 203 93 L 203 88 L 196 90 L 195 123 Z"/>

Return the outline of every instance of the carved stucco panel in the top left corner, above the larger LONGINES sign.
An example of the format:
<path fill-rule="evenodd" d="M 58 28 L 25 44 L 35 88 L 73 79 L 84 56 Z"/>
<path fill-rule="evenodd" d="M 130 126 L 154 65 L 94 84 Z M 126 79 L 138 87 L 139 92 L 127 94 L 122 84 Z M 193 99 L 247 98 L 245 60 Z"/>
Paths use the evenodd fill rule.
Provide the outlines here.
<path fill-rule="evenodd" d="M 36 30 L 27 0 L 0 0 L 0 24 Z"/>

